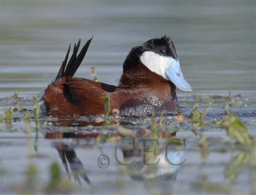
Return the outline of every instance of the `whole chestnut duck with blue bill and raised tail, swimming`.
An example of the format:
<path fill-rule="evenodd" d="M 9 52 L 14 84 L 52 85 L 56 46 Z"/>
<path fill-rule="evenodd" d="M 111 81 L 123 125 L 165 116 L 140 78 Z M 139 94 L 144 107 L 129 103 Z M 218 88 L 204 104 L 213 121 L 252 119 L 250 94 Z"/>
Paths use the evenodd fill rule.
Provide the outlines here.
<path fill-rule="evenodd" d="M 69 45 L 55 81 L 45 89 L 42 99 L 52 116 L 104 114 L 104 96 L 110 99 L 111 111 L 118 109 L 123 115 L 177 111 L 176 87 L 193 90 L 182 75 L 175 47 L 168 36 L 132 47 L 124 61 L 118 86 L 73 77 L 91 40 L 77 55 L 79 40 L 67 63 Z"/>

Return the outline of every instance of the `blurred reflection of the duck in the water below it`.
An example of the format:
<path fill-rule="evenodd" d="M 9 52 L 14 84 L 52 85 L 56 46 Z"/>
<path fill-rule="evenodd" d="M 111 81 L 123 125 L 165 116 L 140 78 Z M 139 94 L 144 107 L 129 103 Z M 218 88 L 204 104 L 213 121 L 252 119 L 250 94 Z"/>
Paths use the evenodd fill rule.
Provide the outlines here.
<path fill-rule="evenodd" d="M 46 139 L 56 138 L 73 138 L 79 143 L 84 143 L 83 148 L 86 146 L 86 142 L 90 144 L 90 148 L 96 146 L 95 138 L 106 137 L 102 133 L 90 134 L 90 133 L 46 133 Z M 109 135 L 108 135 L 109 136 Z M 182 148 L 184 143 L 182 139 L 178 139 L 174 134 L 168 132 L 162 132 L 161 137 L 167 140 L 167 143 L 157 143 L 152 139 L 152 132 L 148 129 L 140 129 L 136 132 L 136 139 L 125 138 L 120 134 L 111 134 L 110 139 L 118 140 L 116 143 L 116 160 L 118 166 L 124 168 L 125 173 L 129 175 L 132 180 L 141 181 L 145 185 L 146 189 L 152 193 L 157 194 L 172 194 L 173 182 L 177 178 L 180 164 L 184 162 L 182 157 Z M 83 141 L 82 141 L 83 140 Z M 134 144 L 135 140 L 135 144 Z M 147 140 L 141 141 L 141 140 Z M 160 139 L 159 139 L 160 140 Z M 138 142 L 138 143 L 137 143 Z M 156 144 L 157 143 L 157 144 Z M 177 145 L 177 143 L 179 143 Z M 77 157 L 74 150 L 74 146 L 61 142 L 61 140 L 54 143 L 55 148 L 58 150 L 63 166 L 67 172 L 68 177 L 73 175 L 75 180 L 81 185 L 82 178 L 93 193 L 93 182 L 90 182 L 86 170 L 83 167 L 81 160 Z M 81 144 L 79 144 L 81 147 Z M 134 148 L 135 147 L 135 148 Z M 152 152 L 152 148 L 155 148 L 156 155 Z M 115 150 L 115 148 L 113 148 Z M 113 162 L 113 160 L 111 162 Z M 97 162 L 97 159 L 95 159 Z M 132 163 L 131 163 L 132 162 Z M 68 166 L 70 170 L 68 169 Z M 100 168 L 99 168 L 100 169 Z M 72 174 L 70 174 L 72 173 Z"/>

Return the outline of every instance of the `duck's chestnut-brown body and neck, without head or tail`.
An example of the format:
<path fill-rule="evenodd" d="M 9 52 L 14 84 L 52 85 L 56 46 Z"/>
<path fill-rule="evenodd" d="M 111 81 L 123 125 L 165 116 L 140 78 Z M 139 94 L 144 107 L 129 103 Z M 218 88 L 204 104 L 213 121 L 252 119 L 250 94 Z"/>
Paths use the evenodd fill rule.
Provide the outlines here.
<path fill-rule="evenodd" d="M 138 74 L 153 75 L 148 81 L 147 77 L 142 79 Z M 116 87 L 89 79 L 62 77 L 46 88 L 45 105 L 52 116 L 104 114 L 102 97 L 108 96 L 111 111 L 118 109 L 121 113 L 125 108 L 138 105 L 152 105 L 156 112 L 177 109 L 175 86 L 146 67 L 141 66 L 135 75 L 122 75 L 121 81 Z M 129 82 L 132 82 L 131 87 L 127 86 Z"/>

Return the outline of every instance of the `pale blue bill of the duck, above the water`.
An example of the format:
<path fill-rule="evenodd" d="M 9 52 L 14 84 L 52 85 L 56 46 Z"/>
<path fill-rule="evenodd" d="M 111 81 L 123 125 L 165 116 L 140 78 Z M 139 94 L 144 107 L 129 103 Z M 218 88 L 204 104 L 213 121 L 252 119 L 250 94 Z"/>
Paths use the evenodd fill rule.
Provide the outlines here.
<path fill-rule="evenodd" d="M 172 59 L 172 65 L 170 66 L 170 68 L 167 68 L 165 70 L 165 74 L 168 76 L 170 81 L 172 81 L 172 83 L 175 84 L 175 86 L 180 90 L 189 92 L 193 91 L 191 85 L 183 77 L 183 74 L 180 70 L 179 59 L 178 61 Z"/>

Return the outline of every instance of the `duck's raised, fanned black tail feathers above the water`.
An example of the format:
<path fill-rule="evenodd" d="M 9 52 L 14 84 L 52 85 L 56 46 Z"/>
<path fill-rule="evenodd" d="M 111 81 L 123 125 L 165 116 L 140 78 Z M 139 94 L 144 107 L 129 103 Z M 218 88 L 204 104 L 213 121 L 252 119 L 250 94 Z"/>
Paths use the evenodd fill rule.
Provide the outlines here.
<path fill-rule="evenodd" d="M 93 36 L 92 36 L 92 38 L 93 38 Z M 88 47 L 92 41 L 92 38 L 90 38 L 85 43 L 84 47 L 81 49 L 80 53 L 77 56 L 77 52 L 78 52 L 80 42 L 81 42 L 81 39 L 79 39 L 77 45 L 75 43 L 74 49 L 73 49 L 73 54 L 68 61 L 68 54 L 70 52 L 70 45 L 69 45 L 68 52 L 66 54 L 64 61 L 62 62 L 62 65 L 60 67 L 58 75 L 56 76 L 55 82 L 58 81 L 58 79 L 60 79 L 63 76 L 65 76 L 65 77 L 73 77 L 74 76 L 74 74 L 77 71 L 77 68 L 79 68 L 79 66 L 81 65 L 81 62 L 84 59 L 84 56 L 88 50 Z M 67 64 L 67 61 L 68 61 L 68 64 Z"/>

